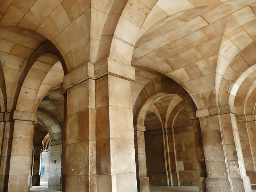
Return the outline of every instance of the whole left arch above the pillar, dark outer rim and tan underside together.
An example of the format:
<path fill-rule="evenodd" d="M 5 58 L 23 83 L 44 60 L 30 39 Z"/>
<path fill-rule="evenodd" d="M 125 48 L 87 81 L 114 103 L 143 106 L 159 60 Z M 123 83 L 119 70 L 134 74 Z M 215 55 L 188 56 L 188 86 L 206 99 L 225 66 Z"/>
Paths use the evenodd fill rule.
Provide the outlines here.
<path fill-rule="evenodd" d="M 60 66 L 62 71 L 59 70 Z M 13 109 L 36 112 L 38 102 L 67 73 L 66 64 L 60 52 L 50 41 L 44 42 L 32 54 L 22 72 Z M 49 78 L 54 78 L 54 81 Z M 28 101 L 26 106 L 22 105 L 24 100 Z"/>

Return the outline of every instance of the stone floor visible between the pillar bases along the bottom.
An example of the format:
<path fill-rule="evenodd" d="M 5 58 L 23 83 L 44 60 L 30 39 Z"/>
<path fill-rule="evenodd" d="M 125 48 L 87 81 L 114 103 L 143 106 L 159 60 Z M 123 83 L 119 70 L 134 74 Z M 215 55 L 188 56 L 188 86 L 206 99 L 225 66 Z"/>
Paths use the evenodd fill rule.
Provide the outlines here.
<path fill-rule="evenodd" d="M 47 182 L 40 182 L 40 186 L 30 188 L 31 192 L 60 192 L 47 190 Z M 150 186 L 150 192 L 198 192 L 194 186 Z M 256 190 L 252 190 L 256 192 Z"/>

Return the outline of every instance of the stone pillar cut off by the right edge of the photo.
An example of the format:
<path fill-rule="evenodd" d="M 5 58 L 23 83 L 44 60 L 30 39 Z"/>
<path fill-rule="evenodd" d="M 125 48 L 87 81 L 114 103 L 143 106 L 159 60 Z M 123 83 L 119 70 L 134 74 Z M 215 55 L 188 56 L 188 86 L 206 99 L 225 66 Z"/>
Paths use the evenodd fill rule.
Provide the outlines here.
<path fill-rule="evenodd" d="M 242 145 L 246 175 L 250 177 L 252 189 L 256 189 L 256 115 L 236 117 Z"/>

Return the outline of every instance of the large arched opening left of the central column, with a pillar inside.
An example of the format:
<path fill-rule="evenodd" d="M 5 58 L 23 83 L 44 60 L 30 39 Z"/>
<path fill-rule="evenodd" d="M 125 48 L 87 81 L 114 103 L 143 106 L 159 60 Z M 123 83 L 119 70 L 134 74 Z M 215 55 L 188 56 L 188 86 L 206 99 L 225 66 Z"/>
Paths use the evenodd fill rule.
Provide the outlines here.
<path fill-rule="evenodd" d="M 16 180 L 21 184 L 19 190 L 23 191 L 30 189 L 30 180 L 32 185 L 40 181 L 38 154 L 43 149 L 42 140 L 47 132 L 50 140 L 46 146 L 50 146 L 53 154 L 50 160 L 53 166 L 50 170 L 54 171 L 50 172 L 50 177 L 55 180 L 59 177 L 58 187 L 54 189 L 61 190 L 64 98 L 58 100 L 61 102 L 54 107 L 44 105 L 42 100 L 56 86 L 55 92 L 62 97 L 59 87 L 64 73 L 67 73 L 65 62 L 56 47 L 37 32 L 18 26 L 1 26 L 0 32 L 4 41 L 0 51 L 3 74 L 1 78 L 4 77 L 6 87 L 5 96 L 4 84 L 1 81 L 3 96 L 0 100 L 1 108 L 5 107 L 9 114 L 6 121 L 11 122 L 5 123 L 8 126 L 5 131 L 10 130 L 9 138 L 2 140 L 1 164 L 5 170 L 2 169 L 1 172 L 4 178 L 0 185 L 1 190 L 15 188 Z M 51 93 L 52 98 L 58 97 L 55 92 Z M 2 105 L 4 100 L 7 103 Z M 46 111 L 45 114 L 50 116 L 48 123 L 43 124 L 44 120 L 41 119 L 40 122 L 40 118 L 36 118 L 37 110 Z M 19 164 L 22 164 L 22 168 L 16 171 Z"/>

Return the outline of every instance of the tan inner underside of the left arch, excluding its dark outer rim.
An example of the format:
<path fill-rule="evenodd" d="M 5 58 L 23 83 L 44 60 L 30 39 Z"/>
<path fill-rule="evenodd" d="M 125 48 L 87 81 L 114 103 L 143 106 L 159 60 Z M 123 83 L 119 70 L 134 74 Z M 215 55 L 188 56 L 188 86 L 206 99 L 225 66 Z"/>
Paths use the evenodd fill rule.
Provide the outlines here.
<path fill-rule="evenodd" d="M 50 59 L 48 59 L 49 56 Z M 56 83 L 62 81 L 63 76 L 64 73 L 56 56 L 53 54 L 41 55 L 24 78 L 17 99 L 16 110 L 35 112 L 38 102 L 51 88 L 54 88 Z"/>

